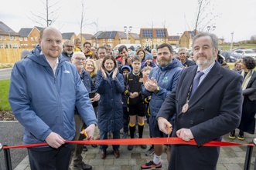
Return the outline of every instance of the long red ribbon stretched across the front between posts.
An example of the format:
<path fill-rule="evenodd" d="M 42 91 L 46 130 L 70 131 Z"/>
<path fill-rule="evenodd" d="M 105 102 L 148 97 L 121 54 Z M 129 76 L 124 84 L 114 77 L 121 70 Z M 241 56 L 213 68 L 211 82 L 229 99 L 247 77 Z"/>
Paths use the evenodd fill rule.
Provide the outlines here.
<path fill-rule="evenodd" d="M 120 139 L 104 139 L 104 140 L 84 140 L 84 141 L 65 141 L 66 143 L 84 144 L 84 145 L 196 145 L 195 140 L 189 142 L 183 141 L 180 138 L 172 137 L 169 138 L 120 138 Z M 47 143 L 37 143 L 30 145 L 15 145 L 15 146 L 4 146 L 6 148 L 32 148 L 38 146 L 45 146 Z M 233 143 L 233 142 L 220 142 L 211 141 L 203 144 L 203 146 L 217 147 L 217 146 L 254 146 L 254 144 L 247 143 Z"/>

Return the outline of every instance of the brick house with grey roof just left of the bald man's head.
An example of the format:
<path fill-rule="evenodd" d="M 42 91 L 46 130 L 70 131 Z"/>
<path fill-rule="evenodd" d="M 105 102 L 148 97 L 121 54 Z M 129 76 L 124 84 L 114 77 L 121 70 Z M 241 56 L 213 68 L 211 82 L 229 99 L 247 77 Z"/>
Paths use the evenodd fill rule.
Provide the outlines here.
<path fill-rule="evenodd" d="M 19 30 L 20 48 L 35 48 L 39 44 L 40 31 L 43 28 L 21 28 Z"/>

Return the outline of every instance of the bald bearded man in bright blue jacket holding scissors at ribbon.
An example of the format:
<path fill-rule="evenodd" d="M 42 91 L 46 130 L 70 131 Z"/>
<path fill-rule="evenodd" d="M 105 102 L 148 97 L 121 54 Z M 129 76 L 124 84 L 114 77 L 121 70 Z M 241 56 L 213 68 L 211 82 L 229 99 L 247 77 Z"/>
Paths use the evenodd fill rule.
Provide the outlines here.
<path fill-rule="evenodd" d="M 23 141 L 48 143 L 28 148 L 31 169 L 68 169 L 71 145 L 65 140 L 75 135 L 75 106 L 87 124 L 87 135 L 93 136 L 97 125 L 77 68 L 61 52 L 61 33 L 53 27 L 43 28 L 39 46 L 12 69 L 9 103 L 24 126 Z"/>

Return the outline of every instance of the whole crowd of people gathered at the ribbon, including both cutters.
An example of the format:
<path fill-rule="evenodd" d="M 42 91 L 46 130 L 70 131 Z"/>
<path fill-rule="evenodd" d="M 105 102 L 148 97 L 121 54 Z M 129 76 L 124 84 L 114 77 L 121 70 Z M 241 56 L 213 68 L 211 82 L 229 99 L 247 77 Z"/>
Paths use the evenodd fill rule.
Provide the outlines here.
<path fill-rule="evenodd" d="M 86 146 L 65 140 L 148 138 L 145 118 L 150 138 L 171 134 L 196 141 L 166 145 L 169 170 L 216 169 L 220 147 L 202 145 L 229 132 L 236 138 L 235 128 L 244 140 L 244 132 L 254 134 L 255 128 L 255 60 L 241 58 L 234 71 L 224 64 L 217 37 L 210 33 L 195 35 L 193 53 L 180 48 L 175 56 L 163 43 L 136 51 L 121 45 L 114 55 L 110 45 L 82 46 L 79 38 L 62 44 L 56 28 L 43 28 L 39 45 L 15 63 L 9 91 L 12 112 L 24 126 L 24 143 L 48 143 L 28 149 L 31 169 L 68 169 L 73 160 L 73 169 L 90 170 L 81 156 Z M 115 158 L 119 147 L 112 145 Z M 99 148 L 105 159 L 108 145 Z M 154 155 L 141 168 L 161 169 L 164 148 L 145 150 Z"/>

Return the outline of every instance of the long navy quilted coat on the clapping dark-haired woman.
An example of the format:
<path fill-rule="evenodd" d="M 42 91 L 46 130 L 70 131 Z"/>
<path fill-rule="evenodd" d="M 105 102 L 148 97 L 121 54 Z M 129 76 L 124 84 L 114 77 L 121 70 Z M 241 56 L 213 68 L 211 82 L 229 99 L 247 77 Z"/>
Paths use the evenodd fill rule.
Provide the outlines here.
<path fill-rule="evenodd" d="M 103 132 L 114 132 L 123 128 L 121 94 L 125 91 L 124 78 L 118 73 L 113 80 L 112 74 L 107 75 L 104 80 L 102 73 L 97 72 L 96 87 L 97 92 L 101 95 L 98 102 L 97 118 L 98 127 Z"/>

